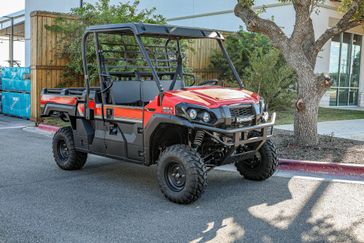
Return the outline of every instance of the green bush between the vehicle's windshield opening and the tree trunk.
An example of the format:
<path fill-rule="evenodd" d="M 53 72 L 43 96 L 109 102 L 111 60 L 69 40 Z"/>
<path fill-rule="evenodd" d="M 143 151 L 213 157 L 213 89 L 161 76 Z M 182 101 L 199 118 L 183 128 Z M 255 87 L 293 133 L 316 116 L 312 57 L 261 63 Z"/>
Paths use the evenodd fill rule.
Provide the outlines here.
<path fill-rule="evenodd" d="M 225 46 L 246 89 L 259 93 L 271 109 L 291 105 L 296 75 L 268 38 L 241 30 L 229 35 Z M 237 85 L 221 52 L 212 54 L 211 65 L 219 79 Z"/>

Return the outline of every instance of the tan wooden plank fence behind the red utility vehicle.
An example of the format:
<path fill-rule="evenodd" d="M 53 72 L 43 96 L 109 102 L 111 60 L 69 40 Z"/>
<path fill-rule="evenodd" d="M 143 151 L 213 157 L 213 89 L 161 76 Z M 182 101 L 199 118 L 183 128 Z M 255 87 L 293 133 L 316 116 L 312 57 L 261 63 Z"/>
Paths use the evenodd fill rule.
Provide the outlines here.
<path fill-rule="evenodd" d="M 40 92 L 43 88 L 55 88 L 64 82 L 64 69 L 68 60 L 61 57 L 59 44 L 63 36 L 50 31 L 56 18 L 77 21 L 74 16 L 36 11 L 31 14 L 31 119 L 39 122 Z M 212 50 L 218 48 L 216 40 L 193 40 L 187 51 L 187 65 L 199 80 L 217 78 L 217 73 L 210 68 Z M 73 87 L 83 86 L 81 77 L 75 77 Z"/>

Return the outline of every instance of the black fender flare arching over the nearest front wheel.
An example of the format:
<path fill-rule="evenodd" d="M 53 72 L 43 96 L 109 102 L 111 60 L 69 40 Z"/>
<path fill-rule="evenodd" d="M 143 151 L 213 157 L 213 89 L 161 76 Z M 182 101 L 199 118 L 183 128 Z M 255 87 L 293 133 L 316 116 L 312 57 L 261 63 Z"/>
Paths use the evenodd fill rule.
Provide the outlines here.
<path fill-rule="evenodd" d="M 148 121 L 147 125 L 144 127 L 144 164 L 151 165 L 153 161 L 150 158 L 150 139 L 152 137 L 153 132 L 160 124 L 173 124 L 180 125 L 186 128 L 194 129 L 195 125 L 188 120 L 174 116 L 174 115 L 165 115 L 165 114 L 154 114 Z"/>

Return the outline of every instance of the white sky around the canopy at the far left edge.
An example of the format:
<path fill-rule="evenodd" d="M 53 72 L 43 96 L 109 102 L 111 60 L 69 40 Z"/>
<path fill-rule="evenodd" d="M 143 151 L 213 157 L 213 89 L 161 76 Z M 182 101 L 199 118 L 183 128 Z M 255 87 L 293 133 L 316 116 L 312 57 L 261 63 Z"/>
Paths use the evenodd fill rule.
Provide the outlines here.
<path fill-rule="evenodd" d="M 24 9 L 25 0 L 0 0 L 0 17 Z M 9 42 L 0 39 L 0 66 L 7 65 L 4 60 L 9 59 Z M 14 59 L 24 64 L 24 42 L 14 43 Z"/>

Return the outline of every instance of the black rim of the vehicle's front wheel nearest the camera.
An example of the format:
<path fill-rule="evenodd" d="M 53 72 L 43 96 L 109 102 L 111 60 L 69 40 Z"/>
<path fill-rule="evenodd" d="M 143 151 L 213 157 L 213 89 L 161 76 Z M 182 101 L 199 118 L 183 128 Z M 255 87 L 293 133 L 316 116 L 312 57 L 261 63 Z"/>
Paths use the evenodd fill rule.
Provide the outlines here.
<path fill-rule="evenodd" d="M 168 187 L 175 192 L 182 191 L 186 184 L 186 172 L 182 164 L 171 162 L 167 165 L 164 176 Z"/>

